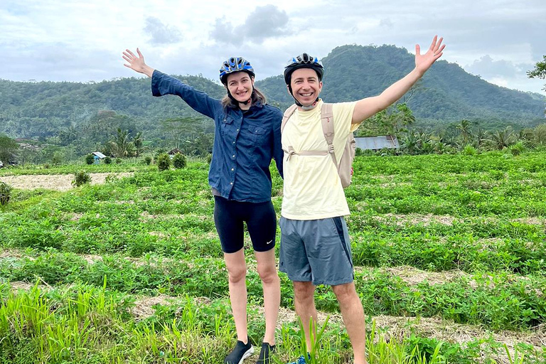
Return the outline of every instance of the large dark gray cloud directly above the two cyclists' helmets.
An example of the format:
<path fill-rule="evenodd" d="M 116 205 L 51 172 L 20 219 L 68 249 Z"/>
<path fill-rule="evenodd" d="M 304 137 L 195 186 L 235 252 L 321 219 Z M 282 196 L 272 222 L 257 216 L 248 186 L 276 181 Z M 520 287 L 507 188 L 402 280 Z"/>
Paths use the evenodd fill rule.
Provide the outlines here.
<path fill-rule="evenodd" d="M 288 15 L 277 6 L 257 6 L 249 14 L 244 24 L 233 27 L 225 18 L 216 19 L 213 31 L 215 41 L 241 45 L 245 40 L 262 43 L 267 38 L 283 36 L 287 33 Z"/>

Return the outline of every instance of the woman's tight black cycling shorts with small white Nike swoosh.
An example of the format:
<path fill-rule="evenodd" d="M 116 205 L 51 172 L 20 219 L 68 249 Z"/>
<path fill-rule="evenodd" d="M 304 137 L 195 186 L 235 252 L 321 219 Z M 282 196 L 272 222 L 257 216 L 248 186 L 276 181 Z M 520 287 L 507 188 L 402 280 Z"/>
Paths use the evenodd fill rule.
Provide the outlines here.
<path fill-rule="evenodd" d="M 223 252 L 241 250 L 245 232 L 243 223 L 247 223 L 252 247 L 256 252 L 267 252 L 275 246 L 277 215 L 271 200 L 252 203 L 214 196 L 214 223 Z"/>

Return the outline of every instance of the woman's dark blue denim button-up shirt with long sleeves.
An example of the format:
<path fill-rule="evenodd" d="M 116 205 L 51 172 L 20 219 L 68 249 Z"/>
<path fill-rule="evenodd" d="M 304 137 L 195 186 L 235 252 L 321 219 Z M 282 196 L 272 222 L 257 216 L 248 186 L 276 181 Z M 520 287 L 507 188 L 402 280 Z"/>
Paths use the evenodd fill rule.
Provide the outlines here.
<path fill-rule="evenodd" d="M 151 92 L 154 96 L 178 95 L 192 109 L 214 120 L 208 183 L 220 196 L 252 203 L 271 199 L 272 158 L 282 176 L 280 109 L 261 103 L 244 113 L 238 107 L 223 107 L 220 100 L 158 70 L 151 77 Z"/>

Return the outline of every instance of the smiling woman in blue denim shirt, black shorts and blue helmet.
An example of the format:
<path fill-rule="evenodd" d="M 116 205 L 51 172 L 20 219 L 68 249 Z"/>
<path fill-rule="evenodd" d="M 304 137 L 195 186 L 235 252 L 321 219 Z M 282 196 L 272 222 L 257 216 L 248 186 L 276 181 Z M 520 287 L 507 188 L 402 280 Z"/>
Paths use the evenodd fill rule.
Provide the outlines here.
<path fill-rule="evenodd" d="M 265 335 L 257 363 L 270 363 L 280 304 L 280 282 L 275 265 L 277 217 L 271 202 L 269 164 L 274 159 L 282 176 L 282 112 L 265 103 L 254 87 L 252 65 L 232 57 L 220 68 L 228 95 L 216 100 L 204 92 L 154 70 L 137 48 L 123 53 L 126 67 L 151 77 L 154 96 L 178 95 L 197 112 L 215 122 L 213 159 L 208 182 L 215 198 L 214 221 L 228 269 L 230 300 L 237 329 L 237 344 L 224 363 L 240 364 L 254 348 L 247 334 L 246 262 L 243 224 L 252 240 L 257 270 L 264 290 Z"/>

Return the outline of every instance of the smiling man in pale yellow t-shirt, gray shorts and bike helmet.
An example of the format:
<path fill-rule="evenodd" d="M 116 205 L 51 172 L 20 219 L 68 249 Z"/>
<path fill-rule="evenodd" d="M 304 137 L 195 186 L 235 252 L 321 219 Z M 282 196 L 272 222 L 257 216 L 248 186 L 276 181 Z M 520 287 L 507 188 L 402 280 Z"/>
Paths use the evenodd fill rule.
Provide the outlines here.
<path fill-rule="evenodd" d="M 333 104 L 337 161 L 349 133 L 363 120 L 399 100 L 442 55 L 442 40 L 435 36 L 424 55 L 416 45 L 414 70 L 381 95 Z M 284 69 L 284 80 L 298 108 L 282 131 L 282 149 L 288 158 L 284 161 L 279 265 L 294 283 L 294 306 L 303 323 L 307 348 L 311 348 L 309 323 L 313 319 L 315 325 L 317 316 L 315 286 L 328 284 L 341 308 L 354 363 L 365 364 L 364 311 L 353 282 L 353 258 L 343 218 L 349 214 L 349 208 L 331 156 L 312 153 L 328 150 L 321 123 L 323 102 L 319 99 L 323 73 L 323 65 L 307 53 L 292 58 Z M 308 358 L 302 355 L 294 364 L 304 364 Z"/>

